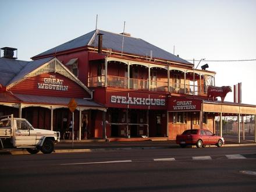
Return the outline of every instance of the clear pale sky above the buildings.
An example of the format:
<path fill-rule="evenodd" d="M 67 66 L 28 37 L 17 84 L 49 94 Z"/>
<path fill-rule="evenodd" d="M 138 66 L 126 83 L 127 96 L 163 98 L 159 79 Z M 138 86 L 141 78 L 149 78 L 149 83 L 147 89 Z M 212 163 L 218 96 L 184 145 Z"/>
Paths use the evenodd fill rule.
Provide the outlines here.
<path fill-rule="evenodd" d="M 198 69 L 207 63 L 216 86 L 241 82 L 242 102 L 256 105 L 255 10 L 254 0 L 0 0 L 0 47 L 17 48 L 18 59 L 30 61 L 95 30 L 98 15 L 97 29 L 122 33 L 125 22 L 132 37 L 195 59 L 195 66 L 205 58 Z M 233 102 L 233 93 L 225 101 Z"/>

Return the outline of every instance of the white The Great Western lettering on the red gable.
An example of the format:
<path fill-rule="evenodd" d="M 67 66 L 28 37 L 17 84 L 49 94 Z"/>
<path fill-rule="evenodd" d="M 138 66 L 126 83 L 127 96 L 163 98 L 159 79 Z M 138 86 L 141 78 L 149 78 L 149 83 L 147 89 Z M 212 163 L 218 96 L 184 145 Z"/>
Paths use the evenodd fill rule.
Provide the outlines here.
<path fill-rule="evenodd" d="M 38 88 L 45 90 L 67 91 L 69 86 L 63 84 L 64 80 L 56 79 L 55 76 L 45 77 L 43 83 L 37 83 Z"/>

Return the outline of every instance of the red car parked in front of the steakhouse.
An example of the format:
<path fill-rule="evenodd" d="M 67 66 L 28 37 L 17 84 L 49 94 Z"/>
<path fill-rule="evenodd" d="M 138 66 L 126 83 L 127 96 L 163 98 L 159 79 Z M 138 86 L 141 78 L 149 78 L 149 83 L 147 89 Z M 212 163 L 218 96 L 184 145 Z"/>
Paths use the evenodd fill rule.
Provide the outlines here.
<path fill-rule="evenodd" d="M 207 129 L 189 129 L 176 136 L 176 143 L 180 147 L 187 145 L 197 145 L 198 148 L 205 147 L 205 145 L 221 147 L 224 144 L 224 138 L 216 136 Z"/>

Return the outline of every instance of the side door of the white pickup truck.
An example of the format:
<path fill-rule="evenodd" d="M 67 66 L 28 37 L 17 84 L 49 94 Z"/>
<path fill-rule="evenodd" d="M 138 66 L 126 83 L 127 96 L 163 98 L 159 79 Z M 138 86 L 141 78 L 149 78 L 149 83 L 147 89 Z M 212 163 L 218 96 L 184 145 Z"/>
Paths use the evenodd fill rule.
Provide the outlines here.
<path fill-rule="evenodd" d="M 35 145 L 35 134 L 31 134 L 31 126 L 26 120 L 16 120 L 16 132 L 14 145 L 17 147 L 22 146 L 34 146 Z"/>

